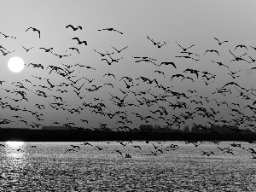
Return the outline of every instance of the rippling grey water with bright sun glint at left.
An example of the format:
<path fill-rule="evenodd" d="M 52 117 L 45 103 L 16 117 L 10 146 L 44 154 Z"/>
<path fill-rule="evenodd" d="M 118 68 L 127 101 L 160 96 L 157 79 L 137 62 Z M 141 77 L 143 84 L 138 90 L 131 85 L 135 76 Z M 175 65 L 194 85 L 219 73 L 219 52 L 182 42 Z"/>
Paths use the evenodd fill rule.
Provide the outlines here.
<path fill-rule="evenodd" d="M 256 191 L 256 160 L 230 143 L 1 143 L 0 191 Z"/>

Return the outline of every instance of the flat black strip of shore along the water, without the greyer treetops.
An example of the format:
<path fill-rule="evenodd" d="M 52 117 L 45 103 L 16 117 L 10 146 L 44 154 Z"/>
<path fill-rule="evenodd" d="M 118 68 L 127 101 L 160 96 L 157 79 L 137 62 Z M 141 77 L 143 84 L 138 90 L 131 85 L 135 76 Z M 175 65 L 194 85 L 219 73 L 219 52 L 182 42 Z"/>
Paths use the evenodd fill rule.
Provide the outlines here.
<path fill-rule="evenodd" d="M 256 141 L 254 134 L 183 132 L 119 132 L 81 130 L 0 129 L 0 142 L 86 142 L 86 141 Z"/>

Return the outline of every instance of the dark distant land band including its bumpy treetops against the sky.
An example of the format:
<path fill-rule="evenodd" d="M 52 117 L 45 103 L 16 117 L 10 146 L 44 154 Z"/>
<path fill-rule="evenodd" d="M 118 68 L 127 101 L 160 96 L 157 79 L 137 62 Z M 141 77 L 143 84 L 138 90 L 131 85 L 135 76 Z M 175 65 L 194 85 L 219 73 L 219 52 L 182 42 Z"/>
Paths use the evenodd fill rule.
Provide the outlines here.
<path fill-rule="evenodd" d="M 108 128 L 90 131 L 70 127 L 69 130 L 0 129 L 0 141 L 24 142 L 85 142 L 85 141 L 256 141 L 253 131 L 240 130 L 236 125 L 193 125 L 177 130 L 159 125 L 140 125 L 139 128 L 112 131 Z"/>

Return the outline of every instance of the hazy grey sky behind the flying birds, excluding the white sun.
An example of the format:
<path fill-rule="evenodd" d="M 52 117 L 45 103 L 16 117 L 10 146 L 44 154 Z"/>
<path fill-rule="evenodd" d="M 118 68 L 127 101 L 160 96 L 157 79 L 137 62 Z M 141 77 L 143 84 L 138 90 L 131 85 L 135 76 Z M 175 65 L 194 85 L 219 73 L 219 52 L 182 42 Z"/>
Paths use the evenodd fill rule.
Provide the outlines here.
<path fill-rule="evenodd" d="M 3 126 L 32 127 L 35 124 L 58 125 L 55 123 L 58 122 L 60 125 L 73 123 L 84 127 L 96 127 L 100 124 L 108 124 L 109 127 L 123 125 L 136 127 L 146 123 L 153 125 L 173 123 L 173 127 L 177 127 L 177 124 L 183 127 L 192 123 L 205 124 L 207 121 L 221 124 L 222 122 L 217 121 L 220 118 L 230 121 L 230 124 L 236 122 L 236 119 L 245 119 L 247 124 L 252 124 L 247 119 L 253 119 L 253 109 L 245 107 L 253 106 L 255 97 L 253 94 L 256 94 L 256 91 L 246 91 L 241 88 L 255 88 L 255 72 L 251 70 L 255 67 L 252 59 L 256 59 L 255 49 L 252 48 L 256 47 L 256 26 L 253 25 L 256 19 L 255 6 L 254 1 L 6 1 L 1 6 L 3 9 L 0 12 L 2 18 L 0 32 L 15 38 L 4 38 L 0 34 L 1 45 L 11 52 L 8 55 L 0 55 L 0 80 L 5 81 L 0 85 L 1 102 L 3 102 L 0 107 L 2 112 L 0 118 L 2 122 L 4 119 L 12 121 Z M 70 24 L 82 26 L 82 30 L 73 31 L 70 27 L 66 28 Z M 38 32 L 32 30 L 26 32 L 29 27 L 37 28 L 41 37 L 38 38 Z M 123 34 L 106 30 L 98 31 L 106 28 L 113 28 Z M 147 37 L 154 39 L 156 43 L 166 42 L 166 44 L 158 48 Z M 87 45 L 78 44 L 78 41 L 72 38 L 85 40 Z M 228 42 L 218 45 L 218 41 L 214 38 Z M 187 50 L 193 54 L 180 53 L 183 49 L 178 44 L 183 48 L 195 44 Z M 237 45 L 245 45 L 246 48 L 244 46 L 236 48 Z M 22 46 L 32 49 L 27 52 Z M 119 50 L 127 48 L 118 53 L 113 47 Z M 39 48 L 53 49 L 51 52 L 45 52 L 44 49 Z M 79 53 L 69 48 L 77 48 Z M 218 50 L 219 55 L 216 52 L 206 53 L 210 49 Z M 7 50 L 3 49 L 3 51 Z M 101 56 L 96 51 L 113 54 Z M 247 53 L 241 57 L 246 61 L 231 61 L 235 57 L 230 51 L 236 56 Z M 69 56 L 59 58 L 57 55 Z M 26 66 L 22 72 L 9 71 L 7 63 L 12 56 L 20 56 L 25 61 Z M 134 58 L 144 56 L 155 61 L 136 62 L 139 59 Z M 102 61 L 102 59 L 111 61 L 110 57 L 118 62 L 108 65 L 106 60 Z M 161 62 L 167 61 L 174 62 L 177 68 L 172 65 L 159 67 Z M 226 67 L 220 67 L 216 62 L 222 62 Z M 28 66 L 29 63 L 41 64 L 44 69 Z M 94 69 L 75 66 L 78 63 Z M 62 71 L 60 69 L 51 71 L 49 66 L 61 67 Z M 198 70 L 199 77 L 197 78 L 195 73 L 184 73 L 187 68 Z M 67 71 L 71 73 L 67 74 Z M 204 75 L 202 72 L 211 74 L 202 77 Z M 63 77 L 61 73 L 67 75 Z M 112 73 L 115 79 L 113 76 L 105 75 L 106 73 Z M 232 74 L 234 78 L 228 73 L 234 73 Z M 172 75 L 175 74 L 183 74 L 192 78 L 194 82 L 191 79 L 172 79 Z M 209 79 L 212 76 L 215 79 Z M 84 79 L 80 79 L 82 77 Z M 130 77 L 134 86 L 127 89 L 125 82 L 130 85 L 132 83 L 127 79 L 124 81 L 122 77 Z M 170 91 L 155 87 L 157 85 L 155 82 L 152 84 L 143 82 L 143 79 L 137 79 L 139 77 L 156 79 L 159 85 L 169 86 Z M 55 87 L 50 88 L 46 79 L 49 79 Z M 75 88 L 71 83 L 78 79 L 80 80 L 74 84 Z M 87 79 L 94 80 L 89 82 Z M 19 87 L 20 84 L 17 82 L 23 84 L 26 89 Z M 224 87 L 230 92 L 212 94 L 217 91 L 216 88 L 220 89 L 230 82 L 239 84 L 241 88 L 230 84 Z M 61 83 L 68 85 L 56 86 Z M 113 87 L 106 83 L 113 84 Z M 96 89 L 93 85 L 104 86 L 95 91 L 86 90 Z M 79 96 L 82 99 L 73 91 L 80 86 L 82 87 Z M 67 92 L 61 93 L 59 89 Z M 24 99 L 14 101 L 22 98 L 15 92 L 20 90 L 26 92 L 25 97 L 28 101 Z M 121 90 L 126 93 L 122 93 Z M 139 91 L 146 90 L 148 90 L 146 95 L 137 95 Z M 188 90 L 196 90 L 196 92 L 191 93 Z M 42 96 L 40 91 L 44 91 L 46 97 Z M 184 93 L 188 97 L 178 98 L 173 96 L 171 91 Z M 239 96 L 240 94 L 244 96 Z M 61 96 L 62 101 L 55 96 Z M 119 99 L 125 96 L 126 106 L 118 107 L 116 105 L 118 99 L 114 96 Z M 154 96 L 158 99 L 166 96 L 164 97 L 166 100 L 152 102 Z M 249 99 L 246 99 L 247 97 Z M 194 99 L 199 103 L 191 102 Z M 218 106 L 214 99 L 218 103 L 228 104 Z M 4 104 L 5 102 L 20 110 L 11 110 L 7 104 Z M 187 103 L 188 106 L 175 109 L 168 107 L 170 103 L 175 105 L 177 102 Z M 234 104 L 231 104 L 232 102 Z M 67 106 L 60 108 L 50 103 Z M 99 103 L 103 103 L 105 107 L 100 107 L 102 104 Z M 137 106 L 127 105 L 129 103 Z M 42 105 L 43 109 L 36 104 Z M 152 113 L 158 109 L 163 112 L 161 107 L 166 108 L 168 114 Z M 197 111 L 196 108 L 206 108 L 207 113 L 212 114 L 214 118 L 210 116 L 202 120 L 203 115 L 198 113 L 205 112 Z M 79 112 L 73 112 L 74 109 L 79 109 Z M 232 109 L 237 109 L 242 114 L 235 110 L 231 111 Z M 102 113 L 98 113 L 99 111 Z M 118 111 L 124 113 L 118 114 L 116 113 Z M 109 118 L 107 115 L 109 113 L 115 113 L 113 118 Z M 164 119 L 148 119 L 149 122 L 146 122 L 144 119 L 140 120 L 135 113 L 143 117 L 151 115 L 154 119 L 161 116 Z M 193 113 L 190 118 L 180 116 L 189 113 Z M 42 115 L 37 116 L 40 114 Z M 20 118 L 12 117 L 16 115 Z M 128 121 L 131 120 L 133 124 L 126 122 L 122 116 Z M 176 116 L 181 117 L 180 121 L 184 122 L 175 121 Z M 83 123 L 80 119 L 87 119 L 89 123 Z M 21 120 L 26 120 L 27 125 Z M 247 124 L 241 126 L 247 127 Z"/>

